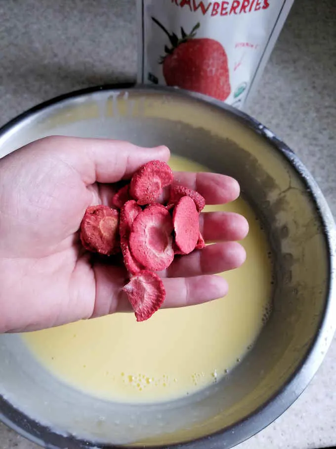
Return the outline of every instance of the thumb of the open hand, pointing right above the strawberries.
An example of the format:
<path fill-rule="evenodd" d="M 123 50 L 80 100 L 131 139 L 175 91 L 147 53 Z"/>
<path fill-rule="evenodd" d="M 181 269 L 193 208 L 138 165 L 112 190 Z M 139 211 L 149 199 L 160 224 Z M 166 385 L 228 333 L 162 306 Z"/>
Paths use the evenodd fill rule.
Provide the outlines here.
<path fill-rule="evenodd" d="M 51 136 L 34 143 L 36 148 L 54 152 L 78 172 L 85 184 L 115 183 L 129 178 L 144 163 L 168 161 L 169 150 L 161 146 L 143 148 L 128 142 Z"/>

